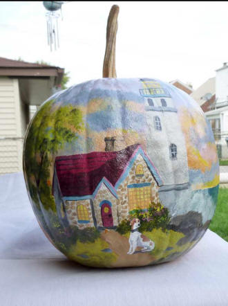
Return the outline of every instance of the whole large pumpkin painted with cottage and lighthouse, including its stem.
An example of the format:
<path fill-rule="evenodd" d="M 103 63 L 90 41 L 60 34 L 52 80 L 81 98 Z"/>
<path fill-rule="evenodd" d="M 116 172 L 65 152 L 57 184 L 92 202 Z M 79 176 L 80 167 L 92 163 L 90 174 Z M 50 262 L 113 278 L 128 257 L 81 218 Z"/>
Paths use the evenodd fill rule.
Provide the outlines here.
<path fill-rule="evenodd" d="M 116 33 L 117 12 L 107 33 Z M 107 39 L 112 58 L 113 44 L 115 35 Z M 110 54 L 104 78 L 56 93 L 32 119 L 23 154 L 28 195 L 44 233 L 71 260 L 168 262 L 189 251 L 213 217 L 213 134 L 187 93 L 155 78 L 115 78 Z"/>

